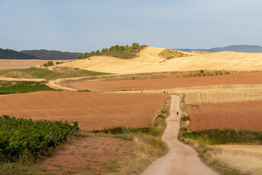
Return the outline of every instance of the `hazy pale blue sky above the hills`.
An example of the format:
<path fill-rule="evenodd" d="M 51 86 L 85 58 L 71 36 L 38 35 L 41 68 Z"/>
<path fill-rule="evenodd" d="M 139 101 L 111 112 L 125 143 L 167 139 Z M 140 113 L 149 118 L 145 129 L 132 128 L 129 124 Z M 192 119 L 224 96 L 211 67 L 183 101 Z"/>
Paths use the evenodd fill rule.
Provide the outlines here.
<path fill-rule="evenodd" d="M 262 46 L 261 0 L 0 0 L 0 48 Z"/>

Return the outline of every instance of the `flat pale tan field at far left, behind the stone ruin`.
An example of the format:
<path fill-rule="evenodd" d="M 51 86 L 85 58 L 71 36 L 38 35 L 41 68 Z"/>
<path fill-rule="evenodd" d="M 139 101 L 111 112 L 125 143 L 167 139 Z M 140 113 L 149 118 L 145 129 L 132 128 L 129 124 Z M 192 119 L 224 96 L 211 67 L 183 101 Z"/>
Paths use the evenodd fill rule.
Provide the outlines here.
<path fill-rule="evenodd" d="M 40 64 L 44 64 L 48 61 L 54 62 L 68 62 L 71 60 L 5 60 L 0 59 L 0 70 L 1 69 L 24 69 L 29 67 L 35 67 Z"/>

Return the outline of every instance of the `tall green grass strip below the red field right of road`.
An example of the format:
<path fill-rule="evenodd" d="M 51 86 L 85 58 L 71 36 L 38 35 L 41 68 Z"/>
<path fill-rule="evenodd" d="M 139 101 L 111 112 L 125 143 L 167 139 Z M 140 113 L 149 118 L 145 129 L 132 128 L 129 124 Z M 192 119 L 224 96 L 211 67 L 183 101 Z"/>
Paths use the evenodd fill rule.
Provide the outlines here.
<path fill-rule="evenodd" d="M 183 137 L 197 140 L 199 145 L 216 144 L 262 144 L 262 131 L 245 129 L 205 129 L 201 131 L 185 132 Z"/>

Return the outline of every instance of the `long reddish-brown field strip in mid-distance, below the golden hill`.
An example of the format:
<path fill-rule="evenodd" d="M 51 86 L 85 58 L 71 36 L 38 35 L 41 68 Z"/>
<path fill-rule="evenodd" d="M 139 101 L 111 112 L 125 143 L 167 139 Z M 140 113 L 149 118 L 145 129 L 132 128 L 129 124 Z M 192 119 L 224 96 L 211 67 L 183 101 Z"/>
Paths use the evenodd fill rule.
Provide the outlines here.
<path fill-rule="evenodd" d="M 231 74 L 208 77 L 191 78 L 165 78 L 144 80 L 121 80 L 121 81 L 87 81 L 81 83 L 70 83 L 71 88 L 88 89 L 92 91 L 114 91 L 114 90 L 152 90 L 184 88 L 209 85 L 239 85 L 239 84 L 262 84 L 262 72 Z M 66 85 L 64 85 L 66 86 Z"/>

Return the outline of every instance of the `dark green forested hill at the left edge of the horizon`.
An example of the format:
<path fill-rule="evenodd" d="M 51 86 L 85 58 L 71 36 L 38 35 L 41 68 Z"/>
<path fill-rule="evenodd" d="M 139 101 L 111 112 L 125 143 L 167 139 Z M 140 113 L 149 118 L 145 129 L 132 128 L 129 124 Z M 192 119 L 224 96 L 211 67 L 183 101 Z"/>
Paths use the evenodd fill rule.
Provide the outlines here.
<path fill-rule="evenodd" d="M 32 60 L 39 59 L 33 55 L 24 54 L 11 49 L 1 49 L 0 48 L 0 59 L 10 59 L 10 60 Z"/>

